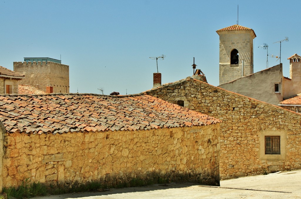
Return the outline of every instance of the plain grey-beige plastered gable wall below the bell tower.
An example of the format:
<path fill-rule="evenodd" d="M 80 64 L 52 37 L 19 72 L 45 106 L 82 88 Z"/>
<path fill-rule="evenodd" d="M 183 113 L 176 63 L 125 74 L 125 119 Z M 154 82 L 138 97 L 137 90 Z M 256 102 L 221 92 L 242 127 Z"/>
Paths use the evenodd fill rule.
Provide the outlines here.
<path fill-rule="evenodd" d="M 282 65 L 276 65 L 252 75 L 239 78 L 219 87 L 228 91 L 278 105 L 283 100 Z M 280 83 L 281 92 L 275 93 L 275 83 Z M 259 85 L 261 85 L 259 89 Z"/>

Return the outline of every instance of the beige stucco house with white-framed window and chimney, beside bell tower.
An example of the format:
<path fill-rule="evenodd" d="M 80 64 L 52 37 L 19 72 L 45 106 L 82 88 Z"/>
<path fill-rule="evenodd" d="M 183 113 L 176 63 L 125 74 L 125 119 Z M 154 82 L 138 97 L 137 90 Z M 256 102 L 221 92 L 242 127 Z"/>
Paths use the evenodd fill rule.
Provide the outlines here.
<path fill-rule="evenodd" d="M 301 93 L 300 58 L 297 54 L 288 58 L 290 60 L 290 78 L 283 76 L 282 64 L 280 64 L 218 87 L 278 105 L 281 101 Z M 258 85 L 262 85 L 260 89 Z"/>

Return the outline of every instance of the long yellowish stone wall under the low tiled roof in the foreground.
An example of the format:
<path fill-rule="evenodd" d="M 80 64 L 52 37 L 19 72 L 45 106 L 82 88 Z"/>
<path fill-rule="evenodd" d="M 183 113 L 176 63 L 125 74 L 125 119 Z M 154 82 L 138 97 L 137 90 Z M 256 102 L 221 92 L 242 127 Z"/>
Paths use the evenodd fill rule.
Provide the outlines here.
<path fill-rule="evenodd" d="M 149 131 L 5 133 L 4 139 L 4 187 L 20 185 L 26 178 L 72 184 L 106 174 L 150 171 L 190 174 L 219 185 L 219 123 Z"/>

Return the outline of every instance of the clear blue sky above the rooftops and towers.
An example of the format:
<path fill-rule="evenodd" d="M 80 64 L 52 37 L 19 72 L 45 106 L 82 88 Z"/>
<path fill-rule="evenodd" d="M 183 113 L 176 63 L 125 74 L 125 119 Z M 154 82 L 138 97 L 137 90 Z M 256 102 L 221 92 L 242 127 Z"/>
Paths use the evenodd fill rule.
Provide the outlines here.
<path fill-rule="evenodd" d="M 219 85 L 219 35 L 237 23 L 252 28 L 254 72 L 266 68 L 266 50 L 301 55 L 299 1 L 8 1 L 0 2 L 0 65 L 13 70 L 23 57 L 62 59 L 70 68 L 70 92 L 109 95 L 151 89 L 156 60 L 162 83 L 193 74 L 193 57 L 208 83 Z M 269 67 L 279 64 L 268 58 Z"/>

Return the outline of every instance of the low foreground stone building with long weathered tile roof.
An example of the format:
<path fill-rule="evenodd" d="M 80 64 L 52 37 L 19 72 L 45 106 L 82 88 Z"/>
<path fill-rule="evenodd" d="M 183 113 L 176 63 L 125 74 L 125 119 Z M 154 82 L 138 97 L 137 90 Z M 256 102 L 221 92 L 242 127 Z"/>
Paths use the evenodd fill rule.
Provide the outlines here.
<path fill-rule="evenodd" d="M 0 119 L 0 190 L 149 173 L 219 185 L 220 120 L 150 95 L 2 95 Z"/>

